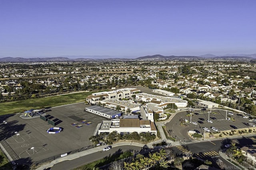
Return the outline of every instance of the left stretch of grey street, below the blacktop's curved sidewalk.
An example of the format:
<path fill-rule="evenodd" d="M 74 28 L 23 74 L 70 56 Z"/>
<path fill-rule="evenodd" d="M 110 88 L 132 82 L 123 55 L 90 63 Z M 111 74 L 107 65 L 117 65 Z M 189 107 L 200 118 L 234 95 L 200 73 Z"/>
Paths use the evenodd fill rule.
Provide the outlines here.
<path fill-rule="evenodd" d="M 133 146 L 133 145 L 124 145 L 124 146 L 118 146 L 114 147 L 111 150 L 108 151 L 100 151 L 100 152 L 94 152 L 92 154 L 82 156 L 80 158 L 74 159 L 74 160 L 66 160 L 63 162 L 60 162 L 58 164 L 54 164 L 51 170 L 72 170 L 76 167 L 88 164 L 90 162 L 99 160 L 101 158 L 112 156 L 114 154 L 120 154 L 125 151 L 140 151 L 142 148 L 139 146 Z"/>

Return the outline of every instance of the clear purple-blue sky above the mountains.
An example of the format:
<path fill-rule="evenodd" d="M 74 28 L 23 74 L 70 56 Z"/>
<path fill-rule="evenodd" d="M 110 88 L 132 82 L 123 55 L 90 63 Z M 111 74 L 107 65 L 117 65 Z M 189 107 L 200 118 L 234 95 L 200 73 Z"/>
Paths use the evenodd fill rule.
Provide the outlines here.
<path fill-rule="evenodd" d="M 0 0 L 0 57 L 256 53 L 256 0 Z"/>

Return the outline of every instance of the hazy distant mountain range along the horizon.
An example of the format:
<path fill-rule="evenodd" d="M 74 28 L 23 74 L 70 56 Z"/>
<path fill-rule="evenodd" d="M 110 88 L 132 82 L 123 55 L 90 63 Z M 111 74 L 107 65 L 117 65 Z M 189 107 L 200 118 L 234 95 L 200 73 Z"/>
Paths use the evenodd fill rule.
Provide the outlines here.
<path fill-rule="evenodd" d="M 200 56 L 164 56 L 160 54 L 147 55 L 144 57 L 131 58 L 114 58 L 109 55 L 82 55 L 82 56 L 60 56 L 60 57 L 36 57 L 36 58 L 22 58 L 22 57 L 3 57 L 0 62 L 52 62 L 52 61 L 90 61 L 90 60 L 155 60 L 155 59 L 256 59 L 256 54 L 226 54 L 226 55 L 213 55 L 205 54 Z"/>

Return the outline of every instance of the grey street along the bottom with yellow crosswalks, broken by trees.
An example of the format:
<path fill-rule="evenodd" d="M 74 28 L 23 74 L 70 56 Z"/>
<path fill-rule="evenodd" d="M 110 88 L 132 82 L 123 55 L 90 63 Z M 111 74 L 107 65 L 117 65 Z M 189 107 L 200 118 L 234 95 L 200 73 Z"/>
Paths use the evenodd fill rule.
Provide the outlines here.
<path fill-rule="evenodd" d="M 203 160 L 212 160 L 214 158 L 221 159 L 225 164 L 227 164 L 230 167 L 234 167 L 232 164 L 227 162 L 226 160 L 222 159 L 220 157 L 219 150 L 224 148 L 225 144 L 230 144 L 231 140 L 238 140 L 240 143 L 240 146 L 247 145 L 247 144 L 253 144 L 253 140 L 251 138 L 256 138 L 256 136 L 251 136 L 248 138 L 245 137 L 238 137 L 233 139 L 220 139 L 220 140 L 212 140 L 207 142 L 200 142 L 200 143 L 192 143 L 192 144 L 184 144 L 184 145 L 178 145 L 173 146 L 172 149 L 177 155 L 182 155 L 184 152 L 191 152 L 195 157 L 198 157 Z M 132 145 L 124 145 L 124 146 L 117 146 L 112 148 L 108 151 L 99 151 L 94 152 L 92 154 L 88 154 L 86 156 L 82 156 L 80 158 L 74 159 L 74 160 L 66 160 L 63 162 L 60 162 L 58 164 L 55 164 L 51 170 L 59 170 L 59 169 L 74 169 L 76 167 L 82 166 L 84 164 L 88 164 L 90 162 L 93 162 L 95 160 L 99 160 L 101 158 L 104 158 L 106 156 L 112 156 L 113 154 L 118 154 L 125 151 L 140 151 L 142 148 L 140 146 L 132 146 Z M 228 168 L 227 168 L 228 169 Z M 232 169 L 232 168 L 231 168 Z"/>

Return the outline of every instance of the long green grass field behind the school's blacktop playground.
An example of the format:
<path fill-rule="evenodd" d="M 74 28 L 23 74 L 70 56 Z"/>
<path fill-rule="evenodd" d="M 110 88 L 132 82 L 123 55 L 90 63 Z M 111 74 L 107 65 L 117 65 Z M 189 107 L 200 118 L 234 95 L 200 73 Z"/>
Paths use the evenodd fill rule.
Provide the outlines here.
<path fill-rule="evenodd" d="M 40 109 L 41 107 L 54 107 L 78 103 L 86 100 L 92 92 L 73 93 L 60 96 L 44 97 L 38 99 L 28 99 L 23 101 L 12 101 L 0 103 L 0 115 L 19 113 L 23 110 Z"/>

